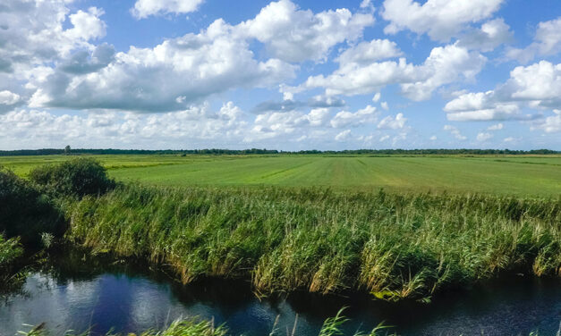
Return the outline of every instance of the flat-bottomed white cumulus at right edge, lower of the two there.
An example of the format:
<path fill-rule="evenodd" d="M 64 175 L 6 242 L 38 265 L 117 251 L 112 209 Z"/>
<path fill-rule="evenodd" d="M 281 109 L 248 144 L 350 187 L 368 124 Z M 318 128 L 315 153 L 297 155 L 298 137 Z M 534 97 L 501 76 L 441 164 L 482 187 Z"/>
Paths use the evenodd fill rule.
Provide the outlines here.
<path fill-rule="evenodd" d="M 524 106 L 534 109 L 561 108 L 561 64 L 547 61 L 519 66 L 510 79 L 494 90 L 464 93 L 444 107 L 448 120 L 492 121 L 532 119 L 539 114 L 524 115 Z"/>

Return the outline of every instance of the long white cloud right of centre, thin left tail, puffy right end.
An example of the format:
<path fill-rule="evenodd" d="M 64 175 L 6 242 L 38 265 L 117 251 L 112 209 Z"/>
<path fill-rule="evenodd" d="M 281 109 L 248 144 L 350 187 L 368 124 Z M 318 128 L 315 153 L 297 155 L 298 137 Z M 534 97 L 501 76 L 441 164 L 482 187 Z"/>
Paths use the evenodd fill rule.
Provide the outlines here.
<path fill-rule="evenodd" d="M 292 88 L 299 92 L 310 88 L 325 88 L 326 95 L 361 95 L 378 92 L 390 84 L 401 84 L 405 97 L 420 101 L 429 99 L 440 86 L 456 80 L 471 80 L 480 72 L 487 59 L 457 45 L 438 46 L 421 65 L 398 62 L 340 63 L 332 74 L 311 76 L 301 86 Z"/>

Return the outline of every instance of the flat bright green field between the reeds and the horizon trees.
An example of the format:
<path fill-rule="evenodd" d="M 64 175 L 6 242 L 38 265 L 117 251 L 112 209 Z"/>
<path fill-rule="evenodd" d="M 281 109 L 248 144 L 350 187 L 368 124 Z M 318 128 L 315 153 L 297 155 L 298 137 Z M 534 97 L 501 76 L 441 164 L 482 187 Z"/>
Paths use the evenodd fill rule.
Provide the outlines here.
<path fill-rule="evenodd" d="M 6 156 L 21 176 L 64 155 Z M 72 156 L 70 156 L 72 157 Z M 118 181 L 181 186 L 333 187 L 524 197 L 561 194 L 561 155 L 324 156 L 98 155 Z"/>

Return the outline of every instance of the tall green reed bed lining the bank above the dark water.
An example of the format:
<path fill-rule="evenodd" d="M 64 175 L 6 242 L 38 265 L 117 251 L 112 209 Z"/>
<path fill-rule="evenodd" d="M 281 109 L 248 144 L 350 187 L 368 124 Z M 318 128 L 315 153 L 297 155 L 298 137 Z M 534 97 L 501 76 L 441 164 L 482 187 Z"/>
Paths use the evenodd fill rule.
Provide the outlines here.
<path fill-rule="evenodd" d="M 126 185 L 63 207 L 76 243 L 261 294 L 427 300 L 499 273 L 561 276 L 561 198 Z"/>

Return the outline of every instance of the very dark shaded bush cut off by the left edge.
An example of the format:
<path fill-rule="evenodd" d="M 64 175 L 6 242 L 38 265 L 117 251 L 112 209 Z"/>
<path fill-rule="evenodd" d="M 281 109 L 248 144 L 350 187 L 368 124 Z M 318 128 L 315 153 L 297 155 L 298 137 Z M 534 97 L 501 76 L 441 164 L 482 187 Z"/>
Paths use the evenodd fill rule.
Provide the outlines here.
<path fill-rule="evenodd" d="M 38 243 L 43 232 L 64 233 L 63 215 L 49 197 L 0 166 L 0 233 Z"/>

